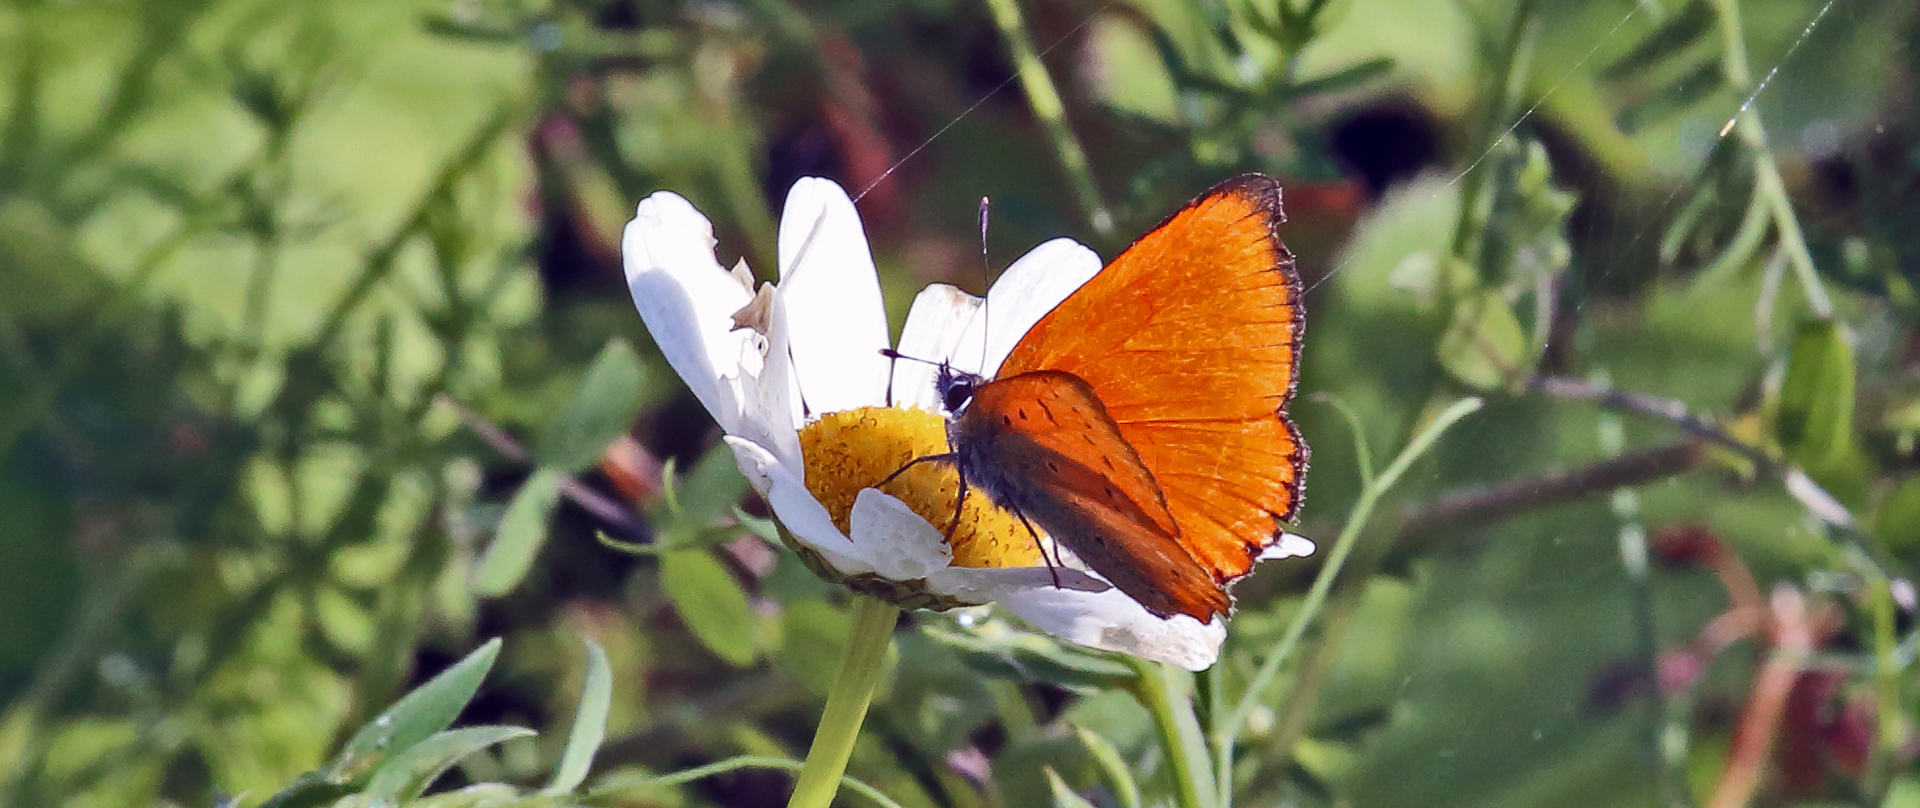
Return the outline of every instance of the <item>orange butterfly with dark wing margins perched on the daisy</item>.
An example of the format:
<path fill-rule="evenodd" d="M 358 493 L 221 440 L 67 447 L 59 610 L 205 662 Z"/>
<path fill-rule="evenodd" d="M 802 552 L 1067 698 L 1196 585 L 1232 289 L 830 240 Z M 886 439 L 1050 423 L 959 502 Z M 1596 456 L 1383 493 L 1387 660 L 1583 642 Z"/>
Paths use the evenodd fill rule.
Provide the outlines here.
<path fill-rule="evenodd" d="M 1308 470 L 1281 221 L 1273 178 L 1221 182 L 1035 322 L 993 380 L 943 363 L 950 453 L 908 466 L 956 466 L 962 503 L 979 489 L 1156 616 L 1227 614 Z"/>

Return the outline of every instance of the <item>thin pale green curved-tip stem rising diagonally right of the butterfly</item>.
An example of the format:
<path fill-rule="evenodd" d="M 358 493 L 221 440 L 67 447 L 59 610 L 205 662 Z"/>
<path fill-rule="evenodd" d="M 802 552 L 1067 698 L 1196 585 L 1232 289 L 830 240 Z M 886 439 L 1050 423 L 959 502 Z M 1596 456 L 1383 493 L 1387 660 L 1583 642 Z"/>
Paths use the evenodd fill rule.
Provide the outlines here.
<path fill-rule="evenodd" d="M 1448 405 L 1440 415 L 1427 424 L 1425 430 L 1417 432 L 1405 449 L 1400 449 L 1400 457 L 1390 463 L 1380 476 L 1365 480 L 1359 491 L 1359 499 L 1354 501 L 1354 509 L 1348 512 L 1346 526 L 1340 528 L 1340 535 L 1332 543 L 1332 551 L 1327 553 L 1327 562 L 1321 564 L 1319 576 L 1313 578 L 1313 587 L 1308 591 L 1306 601 L 1300 605 L 1300 612 L 1294 622 L 1286 626 L 1286 633 L 1275 643 L 1273 653 L 1260 664 L 1260 670 L 1246 683 L 1246 691 L 1240 693 L 1240 702 L 1235 704 L 1233 714 L 1221 725 L 1221 737 L 1215 739 L 1213 749 L 1219 758 L 1213 764 L 1215 783 L 1219 785 L 1219 804 L 1229 804 L 1233 798 L 1233 747 L 1238 741 L 1240 729 L 1246 727 L 1248 716 L 1260 704 L 1260 695 L 1273 685 L 1273 679 L 1281 674 L 1281 664 L 1292 656 L 1294 647 L 1300 645 L 1300 637 L 1306 635 L 1308 626 L 1319 614 L 1321 606 L 1327 605 L 1327 593 L 1332 591 L 1332 582 L 1340 576 L 1340 568 L 1346 558 L 1354 553 L 1359 541 L 1361 530 L 1373 518 L 1373 509 L 1379 505 L 1380 497 L 1386 495 L 1400 482 L 1400 478 L 1413 466 L 1413 461 L 1421 459 L 1427 449 L 1446 434 L 1459 418 L 1478 411 L 1482 401 L 1478 397 L 1465 397 Z"/>

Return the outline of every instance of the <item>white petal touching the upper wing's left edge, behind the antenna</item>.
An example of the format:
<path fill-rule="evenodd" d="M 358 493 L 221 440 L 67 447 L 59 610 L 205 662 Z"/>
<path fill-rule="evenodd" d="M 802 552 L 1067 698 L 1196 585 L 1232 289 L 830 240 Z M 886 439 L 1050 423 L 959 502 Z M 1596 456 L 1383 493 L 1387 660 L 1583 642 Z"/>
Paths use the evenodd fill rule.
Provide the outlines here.
<path fill-rule="evenodd" d="M 1081 242 L 1054 238 L 1033 248 L 987 290 L 987 307 L 960 338 L 954 367 L 991 378 L 1020 338 L 1027 336 L 1027 328 L 1094 274 L 1100 274 L 1100 255 Z M 985 359 L 973 347 L 981 345 L 981 328 L 987 332 Z"/>

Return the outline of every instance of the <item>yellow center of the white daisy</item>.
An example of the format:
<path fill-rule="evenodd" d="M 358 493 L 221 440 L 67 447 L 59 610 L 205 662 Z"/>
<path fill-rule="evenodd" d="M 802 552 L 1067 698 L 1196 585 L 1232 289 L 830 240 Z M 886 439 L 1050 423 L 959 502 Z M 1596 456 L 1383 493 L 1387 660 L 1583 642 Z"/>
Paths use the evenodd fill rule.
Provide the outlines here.
<path fill-rule="evenodd" d="M 1041 566 L 1041 549 L 1027 528 L 996 509 L 977 489 L 954 514 L 960 472 L 950 463 L 916 463 L 879 486 L 908 461 L 947 453 L 947 420 L 924 409 L 860 407 L 828 413 L 801 428 L 806 457 L 806 491 L 828 507 L 833 524 L 851 532 L 852 501 L 864 487 L 879 487 L 906 503 L 935 530 L 952 530 L 954 566 Z"/>

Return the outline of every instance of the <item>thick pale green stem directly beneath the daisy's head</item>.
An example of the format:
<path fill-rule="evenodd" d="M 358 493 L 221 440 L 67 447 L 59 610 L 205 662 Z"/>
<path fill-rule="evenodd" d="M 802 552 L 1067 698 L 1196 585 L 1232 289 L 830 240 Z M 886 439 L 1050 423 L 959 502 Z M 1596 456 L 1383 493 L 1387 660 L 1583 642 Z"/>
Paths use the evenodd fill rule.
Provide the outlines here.
<path fill-rule="evenodd" d="M 801 768 L 801 781 L 793 785 L 787 808 L 828 808 L 839 793 L 847 758 L 852 756 L 860 724 L 866 722 L 866 706 L 874 701 L 874 687 L 885 670 L 887 645 L 893 641 L 893 624 L 899 618 L 900 608 L 891 603 L 872 597 L 854 601 L 847 654 L 841 656 L 841 670 L 833 677 L 833 689 L 828 691 L 826 714 L 820 716 L 814 747 L 806 750 L 806 766 Z"/>

